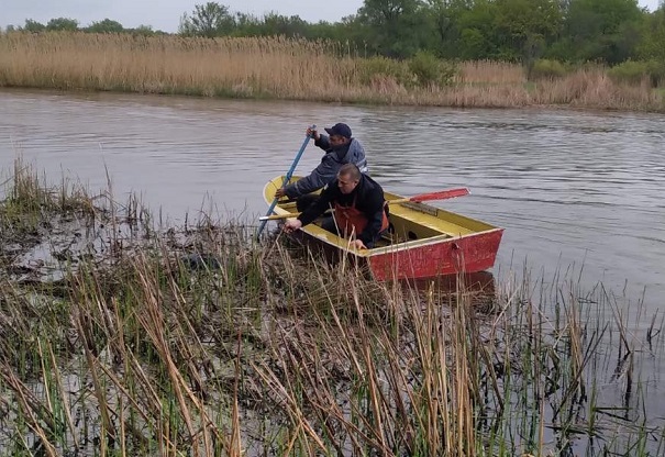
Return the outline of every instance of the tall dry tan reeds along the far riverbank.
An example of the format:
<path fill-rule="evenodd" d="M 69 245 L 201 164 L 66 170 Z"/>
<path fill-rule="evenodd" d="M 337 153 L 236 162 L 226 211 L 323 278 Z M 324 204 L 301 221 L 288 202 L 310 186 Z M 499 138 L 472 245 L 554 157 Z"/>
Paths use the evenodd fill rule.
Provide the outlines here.
<path fill-rule="evenodd" d="M 602 67 L 528 80 L 519 65 L 363 58 L 323 43 L 85 33 L 0 35 L 0 87 L 343 103 L 665 112 Z"/>

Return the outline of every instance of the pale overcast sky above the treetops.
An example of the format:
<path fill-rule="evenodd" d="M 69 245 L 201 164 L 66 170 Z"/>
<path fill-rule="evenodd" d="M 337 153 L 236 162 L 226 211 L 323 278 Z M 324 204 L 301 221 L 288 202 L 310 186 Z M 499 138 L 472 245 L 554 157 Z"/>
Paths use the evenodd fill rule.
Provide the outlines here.
<path fill-rule="evenodd" d="M 182 13 L 208 0 L 0 0 L 0 26 L 23 25 L 26 19 L 46 23 L 54 18 L 76 19 L 80 26 L 111 19 L 124 27 L 152 25 L 154 30 L 177 32 Z M 274 11 L 300 15 L 308 22 L 336 22 L 355 14 L 363 0 L 222 0 L 231 12 L 263 15 Z M 658 0 L 639 0 L 641 7 L 655 10 Z"/>

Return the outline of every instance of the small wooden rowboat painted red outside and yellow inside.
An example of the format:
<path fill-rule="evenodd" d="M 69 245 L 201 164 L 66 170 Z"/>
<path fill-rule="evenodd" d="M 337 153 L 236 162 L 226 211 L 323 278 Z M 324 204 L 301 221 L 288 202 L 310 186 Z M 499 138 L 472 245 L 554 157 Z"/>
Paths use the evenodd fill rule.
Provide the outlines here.
<path fill-rule="evenodd" d="M 291 177 L 291 182 L 299 179 Z M 284 177 L 264 187 L 268 204 Z M 321 228 L 317 223 L 300 228 L 297 236 L 323 247 L 347 254 L 366 264 L 377 280 L 433 278 L 442 275 L 473 274 L 495 264 L 503 228 L 443 210 L 417 198 L 384 192 L 390 203 L 390 231 L 372 249 L 355 249 L 348 239 Z M 295 202 L 277 202 L 275 216 L 296 216 Z"/>

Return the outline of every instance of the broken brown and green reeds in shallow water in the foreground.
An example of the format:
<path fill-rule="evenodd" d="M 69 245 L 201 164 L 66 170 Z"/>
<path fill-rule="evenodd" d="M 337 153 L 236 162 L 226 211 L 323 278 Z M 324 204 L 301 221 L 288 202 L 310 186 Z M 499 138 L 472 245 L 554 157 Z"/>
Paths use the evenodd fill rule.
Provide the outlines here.
<path fill-rule="evenodd" d="M 16 170 L 33 183 L 7 194 L 34 214 L 53 191 Z M 71 253 L 57 281 L 2 265 L 0 455 L 665 454 L 642 368 L 662 319 L 602 288 L 376 283 L 250 224 L 155 227 L 107 197 L 109 261 Z"/>

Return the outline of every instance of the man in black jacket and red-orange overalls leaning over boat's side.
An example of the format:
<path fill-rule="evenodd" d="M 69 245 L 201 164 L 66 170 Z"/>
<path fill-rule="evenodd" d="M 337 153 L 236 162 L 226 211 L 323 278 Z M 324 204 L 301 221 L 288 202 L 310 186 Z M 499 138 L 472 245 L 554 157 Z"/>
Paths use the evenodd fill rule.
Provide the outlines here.
<path fill-rule="evenodd" d="M 358 249 L 373 248 L 381 232 L 388 228 L 384 203 L 384 189 L 379 183 L 362 174 L 354 164 L 345 164 L 340 168 L 337 179 L 323 188 L 321 198 L 298 219 L 289 219 L 284 228 L 296 231 L 333 208 L 334 216 L 321 227 L 353 239 L 352 245 Z"/>

